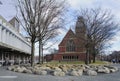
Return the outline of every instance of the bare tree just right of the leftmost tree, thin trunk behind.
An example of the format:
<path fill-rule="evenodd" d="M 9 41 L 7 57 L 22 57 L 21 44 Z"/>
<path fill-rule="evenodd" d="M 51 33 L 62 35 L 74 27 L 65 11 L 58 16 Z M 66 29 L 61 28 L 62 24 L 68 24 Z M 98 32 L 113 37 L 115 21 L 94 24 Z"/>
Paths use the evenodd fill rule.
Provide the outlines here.
<path fill-rule="evenodd" d="M 44 6 L 44 7 L 43 7 Z M 41 8 L 42 7 L 42 8 Z M 65 1 L 57 0 L 41 0 L 41 5 L 38 7 L 39 22 L 39 63 L 41 55 L 43 57 L 43 44 L 47 40 L 52 39 L 58 35 L 58 29 L 63 26 L 63 12 L 65 11 Z M 43 63 L 43 59 L 42 59 Z"/>

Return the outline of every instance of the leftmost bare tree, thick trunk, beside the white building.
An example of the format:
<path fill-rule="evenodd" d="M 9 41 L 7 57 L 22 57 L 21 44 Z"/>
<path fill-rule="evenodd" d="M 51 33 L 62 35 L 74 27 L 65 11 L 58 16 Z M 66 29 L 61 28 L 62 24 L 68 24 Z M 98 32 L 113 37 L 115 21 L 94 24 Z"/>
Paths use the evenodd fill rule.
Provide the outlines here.
<path fill-rule="evenodd" d="M 31 39 L 31 66 L 34 64 L 35 40 L 36 36 L 39 34 L 36 20 L 38 15 L 36 13 L 37 9 L 35 8 L 35 1 L 36 0 L 18 0 L 19 11 L 23 18 L 22 26 Z"/>

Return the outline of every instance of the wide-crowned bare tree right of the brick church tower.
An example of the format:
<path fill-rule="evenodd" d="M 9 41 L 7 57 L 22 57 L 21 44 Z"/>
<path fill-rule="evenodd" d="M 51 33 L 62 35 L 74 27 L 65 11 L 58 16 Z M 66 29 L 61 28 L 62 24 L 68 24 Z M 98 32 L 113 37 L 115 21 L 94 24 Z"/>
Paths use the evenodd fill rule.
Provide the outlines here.
<path fill-rule="evenodd" d="M 82 9 L 78 15 L 83 17 L 83 24 L 86 29 L 86 64 L 89 63 L 89 56 L 93 56 L 93 62 L 101 47 L 114 37 L 118 30 L 118 23 L 114 15 L 107 10 Z M 92 53 L 90 55 L 90 53 Z"/>

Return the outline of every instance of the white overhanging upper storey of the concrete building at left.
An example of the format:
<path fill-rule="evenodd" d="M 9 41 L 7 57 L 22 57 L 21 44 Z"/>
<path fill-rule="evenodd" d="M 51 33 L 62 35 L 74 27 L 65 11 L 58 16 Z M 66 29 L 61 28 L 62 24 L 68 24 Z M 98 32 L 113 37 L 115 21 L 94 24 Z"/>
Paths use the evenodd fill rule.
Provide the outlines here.
<path fill-rule="evenodd" d="M 31 45 L 10 23 L 0 16 L 0 46 L 30 54 Z"/>

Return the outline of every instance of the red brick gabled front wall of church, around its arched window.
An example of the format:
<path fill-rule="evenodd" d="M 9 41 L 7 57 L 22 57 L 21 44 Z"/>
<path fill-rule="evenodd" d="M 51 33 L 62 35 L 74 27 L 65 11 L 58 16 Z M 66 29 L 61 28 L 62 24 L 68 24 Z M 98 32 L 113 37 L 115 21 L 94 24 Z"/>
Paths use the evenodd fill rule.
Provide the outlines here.
<path fill-rule="evenodd" d="M 69 39 L 73 39 L 76 50 L 74 53 L 66 53 L 66 43 Z M 59 51 L 58 54 L 52 54 L 49 57 L 47 57 L 49 60 L 62 60 L 63 56 L 78 56 L 78 60 L 85 60 L 85 53 L 78 53 L 78 52 L 84 52 L 84 45 L 83 41 L 81 41 L 81 38 L 78 38 L 76 34 L 70 29 L 68 33 L 65 35 L 61 43 L 59 44 Z"/>

